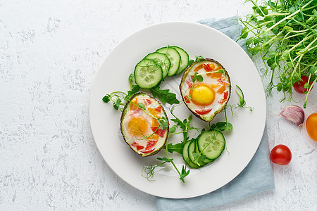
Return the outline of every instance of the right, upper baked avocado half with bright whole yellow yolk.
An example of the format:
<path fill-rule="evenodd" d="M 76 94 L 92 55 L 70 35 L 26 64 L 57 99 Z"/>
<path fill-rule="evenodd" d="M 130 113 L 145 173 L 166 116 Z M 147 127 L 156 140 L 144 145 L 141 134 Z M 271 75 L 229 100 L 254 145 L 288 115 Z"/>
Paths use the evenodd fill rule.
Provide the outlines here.
<path fill-rule="evenodd" d="M 187 108 L 210 122 L 227 105 L 231 82 L 223 65 L 211 58 L 197 60 L 182 76 L 180 93 Z"/>

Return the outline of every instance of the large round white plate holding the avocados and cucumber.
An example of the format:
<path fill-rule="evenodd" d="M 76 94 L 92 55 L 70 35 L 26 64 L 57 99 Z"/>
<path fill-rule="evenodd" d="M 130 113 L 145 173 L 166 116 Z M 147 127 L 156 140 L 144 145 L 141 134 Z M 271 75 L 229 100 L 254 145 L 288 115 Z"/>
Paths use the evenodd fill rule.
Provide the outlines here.
<path fill-rule="evenodd" d="M 111 103 L 101 99 L 112 91 L 128 91 L 129 75 L 135 65 L 148 53 L 163 46 L 176 45 L 185 49 L 189 58 L 203 56 L 218 60 L 230 75 L 232 94 L 229 104 L 239 102 L 235 93 L 235 85 L 244 91 L 247 106 L 254 111 L 238 108 L 231 115 L 228 109 L 228 122 L 233 125 L 232 132 L 225 132 L 226 149 L 223 154 L 209 165 L 199 170 L 190 170 L 185 177 L 185 184 L 180 181 L 177 172 L 170 164 L 156 169 L 154 177 L 149 181 L 142 177 L 144 166 L 158 164 L 156 158 L 166 156 L 166 151 L 149 158 L 142 158 L 133 152 L 120 134 L 120 111 L 115 110 Z M 162 83 L 163 88 L 170 89 L 180 99 L 180 77 L 169 77 Z M 170 105 L 166 105 L 170 107 Z M 171 117 L 168 108 L 166 113 Z M 191 113 L 185 106 L 178 106 L 175 115 L 183 120 Z M 131 186 L 154 196 L 165 198 L 190 198 L 228 184 L 247 166 L 259 146 L 266 122 L 266 98 L 261 79 L 247 53 L 235 41 L 217 30 L 197 23 L 160 23 L 139 30 L 126 38 L 111 53 L 101 66 L 89 99 L 89 117 L 94 140 L 101 155 L 111 169 Z M 216 115 L 211 123 L 224 121 L 224 113 Z M 173 125 L 173 122 L 170 122 Z M 206 127 L 208 124 L 193 118 L 192 124 Z M 198 134 L 191 132 L 191 137 Z M 178 143 L 182 134 L 170 136 L 168 143 Z M 170 154 L 178 169 L 184 161 L 177 153 Z"/>

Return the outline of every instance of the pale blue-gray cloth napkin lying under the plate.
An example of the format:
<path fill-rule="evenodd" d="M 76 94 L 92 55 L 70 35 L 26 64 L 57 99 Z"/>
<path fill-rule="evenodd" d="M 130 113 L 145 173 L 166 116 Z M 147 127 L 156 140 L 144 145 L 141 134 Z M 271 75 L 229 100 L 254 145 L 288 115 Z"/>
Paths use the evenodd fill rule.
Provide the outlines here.
<path fill-rule="evenodd" d="M 204 19 L 198 23 L 213 27 L 233 40 L 240 37 L 242 26 L 235 17 L 216 20 Z M 246 51 L 244 41 L 238 41 Z M 261 143 L 247 167 L 228 184 L 204 196 L 184 199 L 156 198 L 156 206 L 161 210 L 202 210 L 252 196 L 256 193 L 274 189 L 273 170 L 268 150 L 268 135 L 264 130 Z"/>

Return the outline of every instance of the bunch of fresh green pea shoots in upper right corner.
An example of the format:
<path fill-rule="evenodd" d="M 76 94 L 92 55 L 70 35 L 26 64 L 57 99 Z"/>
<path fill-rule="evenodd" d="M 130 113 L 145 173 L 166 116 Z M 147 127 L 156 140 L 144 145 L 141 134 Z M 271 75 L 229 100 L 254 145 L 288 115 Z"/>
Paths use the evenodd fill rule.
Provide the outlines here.
<path fill-rule="evenodd" d="M 254 13 L 239 18 L 244 25 L 239 39 L 247 39 L 251 56 L 261 56 L 266 65 L 264 76 L 271 69 L 267 94 L 277 89 L 284 94 L 281 101 L 291 100 L 293 84 L 306 75 L 306 108 L 317 79 L 317 0 L 247 1 L 253 4 Z"/>

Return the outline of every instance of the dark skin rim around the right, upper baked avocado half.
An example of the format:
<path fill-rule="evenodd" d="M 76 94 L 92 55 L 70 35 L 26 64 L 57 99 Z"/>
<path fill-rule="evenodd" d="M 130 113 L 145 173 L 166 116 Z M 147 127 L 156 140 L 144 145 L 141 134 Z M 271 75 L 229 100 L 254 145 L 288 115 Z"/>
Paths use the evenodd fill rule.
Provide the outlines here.
<path fill-rule="evenodd" d="M 188 72 L 190 71 L 190 69 L 196 65 L 197 63 L 203 63 L 204 61 L 206 62 L 213 62 L 213 63 L 216 63 L 218 64 L 221 68 L 223 68 L 223 70 L 225 70 L 225 68 L 223 67 L 223 65 L 221 65 L 220 63 L 218 63 L 218 61 L 212 59 L 212 58 L 204 58 L 204 59 L 199 59 L 197 61 L 195 61 L 194 63 L 192 63 L 192 65 L 188 66 L 187 69 L 185 70 L 184 72 L 184 75 L 182 75 L 182 81 L 180 82 L 180 95 L 182 96 L 182 84 L 184 84 L 185 82 L 185 79 L 188 75 Z M 227 70 L 225 70 L 225 74 L 228 76 L 228 81 L 230 83 L 229 85 L 229 94 L 228 94 L 228 100 L 225 102 L 225 104 L 223 104 L 223 107 L 219 110 L 216 110 L 215 113 L 213 113 L 212 116 L 209 116 L 208 119 L 204 119 L 203 117 L 201 117 L 201 115 L 197 114 L 194 110 L 191 110 L 188 106 L 187 106 L 187 103 L 185 103 L 185 99 L 184 99 L 184 96 L 182 96 L 182 101 L 184 101 L 186 107 L 188 108 L 188 110 L 190 110 L 196 117 L 198 117 L 199 119 L 205 121 L 205 122 L 211 122 L 211 120 L 213 120 L 213 117 L 216 116 L 216 114 L 218 114 L 221 110 L 223 110 L 223 108 L 225 108 L 225 105 L 227 105 L 228 101 L 229 101 L 229 98 L 231 96 L 231 81 L 230 81 L 230 77 L 229 77 L 229 74 L 227 72 Z"/>

